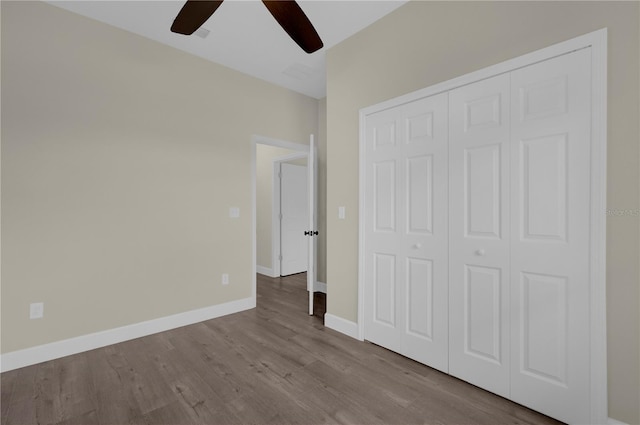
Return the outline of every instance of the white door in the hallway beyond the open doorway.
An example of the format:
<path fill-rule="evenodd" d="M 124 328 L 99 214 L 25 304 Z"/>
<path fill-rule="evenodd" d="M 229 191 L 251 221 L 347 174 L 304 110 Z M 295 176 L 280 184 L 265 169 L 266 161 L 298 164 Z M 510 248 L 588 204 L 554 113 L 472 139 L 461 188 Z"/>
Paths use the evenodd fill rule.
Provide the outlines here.
<path fill-rule="evenodd" d="M 307 167 L 280 165 L 280 275 L 307 271 Z"/>

